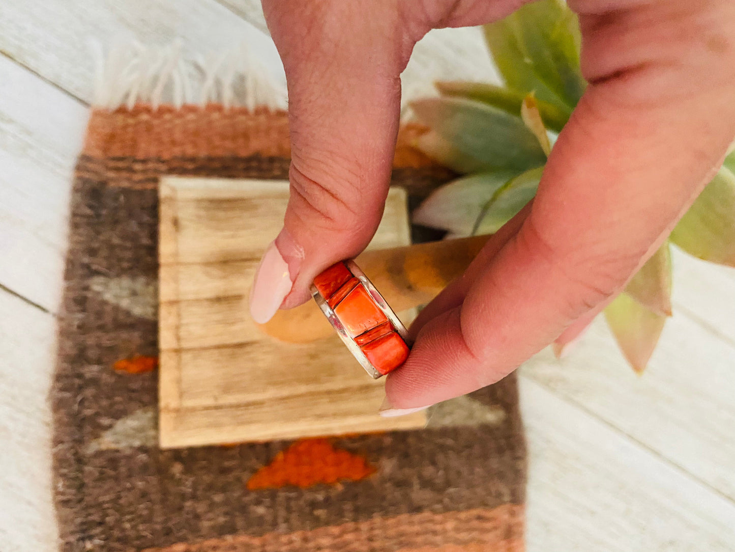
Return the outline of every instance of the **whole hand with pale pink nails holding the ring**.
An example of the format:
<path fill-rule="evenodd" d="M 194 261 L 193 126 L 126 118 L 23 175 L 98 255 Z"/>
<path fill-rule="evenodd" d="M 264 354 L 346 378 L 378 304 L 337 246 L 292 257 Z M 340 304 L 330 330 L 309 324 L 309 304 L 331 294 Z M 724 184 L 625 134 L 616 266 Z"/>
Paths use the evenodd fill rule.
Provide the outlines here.
<path fill-rule="evenodd" d="M 532 205 L 421 311 L 388 414 L 503 378 L 568 342 L 656 251 L 735 135 L 735 4 L 569 0 L 589 86 Z M 251 311 L 265 322 L 356 256 L 380 221 L 399 75 L 429 29 L 495 21 L 517 0 L 265 0 L 289 87 L 291 198 Z M 614 231 L 613 231 L 614 229 Z"/>

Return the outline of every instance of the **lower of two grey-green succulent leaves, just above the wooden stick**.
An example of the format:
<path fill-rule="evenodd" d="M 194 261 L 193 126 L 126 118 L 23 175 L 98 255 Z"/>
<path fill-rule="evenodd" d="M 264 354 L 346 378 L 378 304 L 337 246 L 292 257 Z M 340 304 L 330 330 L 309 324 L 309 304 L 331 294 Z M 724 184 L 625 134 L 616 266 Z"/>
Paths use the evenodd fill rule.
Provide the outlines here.
<path fill-rule="evenodd" d="M 451 236 L 470 236 L 482 206 L 516 173 L 505 169 L 473 174 L 445 184 L 424 199 L 413 213 L 413 222 Z"/>

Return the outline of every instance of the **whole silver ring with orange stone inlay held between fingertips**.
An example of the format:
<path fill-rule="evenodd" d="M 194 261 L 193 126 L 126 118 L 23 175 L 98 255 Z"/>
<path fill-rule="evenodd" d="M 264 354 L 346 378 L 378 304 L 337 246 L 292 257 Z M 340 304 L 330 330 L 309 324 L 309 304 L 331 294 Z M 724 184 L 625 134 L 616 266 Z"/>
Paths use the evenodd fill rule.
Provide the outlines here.
<path fill-rule="evenodd" d="M 378 379 L 404 364 L 408 332 L 354 261 L 318 275 L 312 297 L 357 361 Z"/>

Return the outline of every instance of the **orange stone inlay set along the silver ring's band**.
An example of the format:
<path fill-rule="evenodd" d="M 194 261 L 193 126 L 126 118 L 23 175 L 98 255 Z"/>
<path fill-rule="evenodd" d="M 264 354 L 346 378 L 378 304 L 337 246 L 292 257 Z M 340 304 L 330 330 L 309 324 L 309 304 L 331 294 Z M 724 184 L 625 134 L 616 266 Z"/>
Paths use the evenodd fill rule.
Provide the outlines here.
<path fill-rule="evenodd" d="M 378 372 L 385 375 L 404 364 L 406 342 L 344 262 L 318 275 L 314 286 Z"/>

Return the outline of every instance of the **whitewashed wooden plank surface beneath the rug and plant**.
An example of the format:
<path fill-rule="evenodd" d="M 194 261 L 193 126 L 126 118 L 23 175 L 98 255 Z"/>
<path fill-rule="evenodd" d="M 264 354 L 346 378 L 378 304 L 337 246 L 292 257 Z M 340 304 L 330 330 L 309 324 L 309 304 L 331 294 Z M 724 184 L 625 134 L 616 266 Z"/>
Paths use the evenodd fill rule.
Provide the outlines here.
<path fill-rule="evenodd" d="M 189 54 L 265 29 L 253 0 L 0 1 L 0 550 L 55 549 L 54 311 L 92 95 L 87 40 Z M 431 33 L 404 74 L 493 78 L 475 29 Z M 735 551 L 735 270 L 675 255 L 675 316 L 642 378 L 601 323 L 521 370 L 528 551 Z"/>

